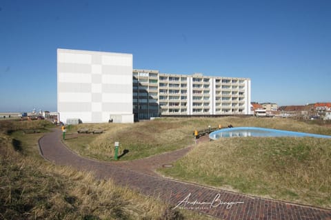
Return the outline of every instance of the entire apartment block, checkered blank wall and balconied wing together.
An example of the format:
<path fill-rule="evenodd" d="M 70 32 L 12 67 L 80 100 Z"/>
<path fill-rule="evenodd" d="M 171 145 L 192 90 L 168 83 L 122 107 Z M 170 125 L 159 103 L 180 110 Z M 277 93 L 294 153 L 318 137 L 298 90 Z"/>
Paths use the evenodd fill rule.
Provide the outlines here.
<path fill-rule="evenodd" d="M 250 79 L 132 69 L 132 54 L 58 49 L 57 93 L 64 123 L 251 114 Z"/>

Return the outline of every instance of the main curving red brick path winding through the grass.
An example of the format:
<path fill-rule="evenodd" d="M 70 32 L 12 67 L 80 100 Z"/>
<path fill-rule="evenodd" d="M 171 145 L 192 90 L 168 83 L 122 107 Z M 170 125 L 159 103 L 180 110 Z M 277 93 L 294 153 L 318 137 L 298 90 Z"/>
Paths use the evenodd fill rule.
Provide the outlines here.
<path fill-rule="evenodd" d="M 128 186 L 143 194 L 158 197 L 174 206 L 180 205 L 179 208 L 192 208 L 220 219 L 331 220 L 331 210 L 249 197 L 127 169 L 132 166 L 126 167 L 123 164 L 118 166 L 117 163 L 82 158 L 68 150 L 60 139 L 61 130 L 55 130 L 39 140 L 43 157 L 56 164 L 72 166 L 78 170 L 92 171 L 102 179 L 111 178 L 119 185 Z M 142 170 L 142 168 L 136 170 L 139 169 Z M 150 171 L 147 172 L 150 173 Z M 230 202 L 234 203 L 231 207 L 228 205 Z"/>

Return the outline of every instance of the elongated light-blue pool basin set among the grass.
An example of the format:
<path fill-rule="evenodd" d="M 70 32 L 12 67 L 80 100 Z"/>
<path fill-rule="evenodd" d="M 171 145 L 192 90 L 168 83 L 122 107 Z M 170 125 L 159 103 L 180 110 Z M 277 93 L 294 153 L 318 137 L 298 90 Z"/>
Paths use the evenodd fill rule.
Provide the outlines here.
<path fill-rule="evenodd" d="M 257 127 L 238 127 L 238 128 L 224 128 L 211 132 L 210 139 L 216 140 L 221 137 L 319 137 L 331 138 L 328 135 L 310 134 L 303 132 L 292 132 L 288 130 L 276 130 L 270 128 Z"/>

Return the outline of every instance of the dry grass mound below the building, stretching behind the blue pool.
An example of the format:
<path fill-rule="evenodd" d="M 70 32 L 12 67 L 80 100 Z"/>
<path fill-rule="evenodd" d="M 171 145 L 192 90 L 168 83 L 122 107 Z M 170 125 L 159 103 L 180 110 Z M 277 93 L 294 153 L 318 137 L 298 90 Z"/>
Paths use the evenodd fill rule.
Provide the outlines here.
<path fill-rule="evenodd" d="M 254 117 L 221 118 L 162 118 L 142 121 L 134 124 L 80 124 L 71 126 L 68 132 L 77 132 L 79 128 L 103 129 L 103 134 L 67 134 L 66 145 L 83 157 L 111 161 L 114 157 L 114 142 L 119 141 L 120 151 L 129 150 L 121 160 L 141 159 L 155 154 L 185 148 L 193 143 L 194 130 L 203 130 L 219 124 L 226 127 L 255 126 L 277 128 L 317 134 L 331 134 L 331 130 L 322 126 L 309 125 L 292 119 L 272 119 Z M 74 137 L 74 138 L 73 138 Z M 121 153 L 120 152 L 120 153 Z"/>

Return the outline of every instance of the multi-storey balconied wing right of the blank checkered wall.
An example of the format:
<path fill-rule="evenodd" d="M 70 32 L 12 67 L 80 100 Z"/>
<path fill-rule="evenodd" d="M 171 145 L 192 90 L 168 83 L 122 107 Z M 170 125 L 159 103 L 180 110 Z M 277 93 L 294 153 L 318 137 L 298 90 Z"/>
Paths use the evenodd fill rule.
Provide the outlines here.
<path fill-rule="evenodd" d="M 250 79 L 133 70 L 133 83 L 136 119 L 175 115 L 251 114 Z"/>

